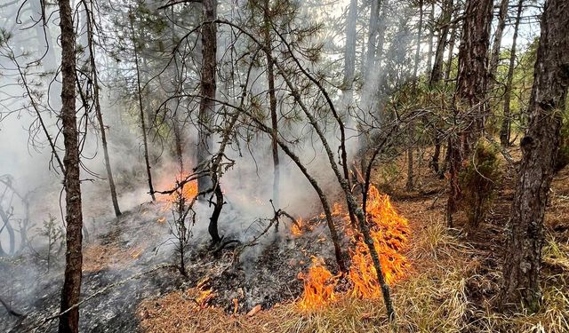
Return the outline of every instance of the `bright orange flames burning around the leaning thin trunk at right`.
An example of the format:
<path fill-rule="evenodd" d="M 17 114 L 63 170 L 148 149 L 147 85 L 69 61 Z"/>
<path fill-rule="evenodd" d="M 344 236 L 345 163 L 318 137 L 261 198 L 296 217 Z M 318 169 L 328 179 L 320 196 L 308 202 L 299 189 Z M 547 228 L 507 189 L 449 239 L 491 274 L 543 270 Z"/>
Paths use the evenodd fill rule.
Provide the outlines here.
<path fill-rule="evenodd" d="M 347 279 L 351 282 L 348 295 L 358 298 L 381 297 L 381 286 L 373 266 L 372 257 L 364 242 L 364 237 L 353 226 L 349 218 L 341 211 L 340 204 L 334 204 L 336 216 L 343 215 L 345 231 L 352 242 L 349 250 L 351 266 Z M 375 250 L 380 256 L 381 270 L 387 283 L 392 283 L 405 276 L 409 262 L 401 250 L 405 249 L 410 234 L 409 222 L 399 216 L 391 205 L 387 194 L 380 194 L 374 186 L 370 187 L 367 202 L 367 218 Z M 335 299 L 334 288 L 340 275 L 334 276 L 324 266 L 324 260 L 313 258 L 313 266 L 308 274 L 299 274 L 304 280 L 304 293 L 299 305 L 303 309 L 314 309 Z"/>

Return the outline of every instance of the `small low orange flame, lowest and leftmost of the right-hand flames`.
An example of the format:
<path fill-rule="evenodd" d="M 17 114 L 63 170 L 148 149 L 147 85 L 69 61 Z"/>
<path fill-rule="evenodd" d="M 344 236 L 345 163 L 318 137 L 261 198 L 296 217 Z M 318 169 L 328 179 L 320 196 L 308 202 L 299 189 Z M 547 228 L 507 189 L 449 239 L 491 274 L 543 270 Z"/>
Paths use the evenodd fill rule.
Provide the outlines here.
<path fill-rule="evenodd" d="M 312 257 L 308 274 L 299 274 L 304 281 L 304 293 L 299 306 L 301 309 L 320 308 L 336 299 L 335 291 L 340 275 L 333 275 L 325 267 L 322 258 Z"/>

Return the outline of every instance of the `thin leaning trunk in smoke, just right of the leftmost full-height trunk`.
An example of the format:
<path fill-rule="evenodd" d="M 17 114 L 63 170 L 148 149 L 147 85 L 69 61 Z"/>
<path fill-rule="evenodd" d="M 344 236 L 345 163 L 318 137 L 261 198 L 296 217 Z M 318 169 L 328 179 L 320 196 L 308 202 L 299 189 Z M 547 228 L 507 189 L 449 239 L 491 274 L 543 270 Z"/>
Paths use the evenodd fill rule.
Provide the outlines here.
<path fill-rule="evenodd" d="M 93 92 L 93 102 L 95 104 L 95 115 L 97 116 L 97 122 L 100 128 L 100 141 L 103 147 L 103 155 L 105 158 L 105 169 L 107 170 L 108 187 L 110 190 L 111 202 L 113 202 L 113 210 L 115 210 L 115 216 L 119 217 L 121 215 L 121 210 L 118 206 L 118 199 L 116 198 L 116 186 L 115 178 L 113 178 L 113 170 L 110 166 L 110 157 L 108 155 L 108 144 L 107 144 L 107 133 L 105 130 L 105 123 L 103 122 L 103 115 L 100 111 L 100 95 L 99 95 L 99 75 L 97 74 L 97 65 L 95 64 L 95 48 L 92 42 L 93 31 L 92 31 L 92 7 L 88 8 L 87 4 L 91 4 L 91 1 L 84 2 L 85 8 L 85 18 L 87 26 L 87 45 L 89 47 L 89 62 L 91 65 L 91 75 L 92 75 L 92 92 Z"/>

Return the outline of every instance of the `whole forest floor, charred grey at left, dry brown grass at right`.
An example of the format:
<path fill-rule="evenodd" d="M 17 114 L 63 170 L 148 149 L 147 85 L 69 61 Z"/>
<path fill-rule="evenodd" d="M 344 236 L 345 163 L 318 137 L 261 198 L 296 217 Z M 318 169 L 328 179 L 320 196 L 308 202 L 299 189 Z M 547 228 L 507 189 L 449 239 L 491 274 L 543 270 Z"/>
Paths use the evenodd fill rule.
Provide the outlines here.
<path fill-rule="evenodd" d="M 520 157 L 516 148 L 510 154 Z M 395 324 L 387 321 L 381 298 L 359 299 L 339 291 L 332 303 L 317 310 L 299 306 L 303 285 L 297 274 L 308 269 L 311 256 L 333 266 L 321 218 L 308 219 L 301 236 L 281 226 L 240 262 L 231 250 L 213 254 L 205 242 L 195 244 L 188 254 L 188 279 L 183 279 L 176 268 L 164 265 L 172 263 L 172 254 L 156 247 L 168 234 L 169 226 L 159 222 L 164 212 L 145 204 L 100 226 L 104 232 L 93 232 L 85 246 L 83 292 L 84 297 L 95 296 L 81 306 L 82 330 L 569 332 L 569 168 L 557 174 L 551 188 L 541 274 L 543 308 L 535 314 L 500 313 L 496 305 L 515 166 L 502 161 L 503 178 L 477 230 L 465 226 L 464 214 L 457 214 L 456 227 L 448 229 L 447 181 L 429 170 L 428 159 L 429 151 L 415 155 L 413 191 L 405 189 L 405 159 L 383 163 L 373 174 L 373 183 L 389 194 L 411 228 L 404 253 L 410 265 L 391 285 Z M 38 259 L 0 261 L 0 278 L 14 281 L 9 289 L 0 285 L 0 294 L 12 295 L 12 306 L 27 314 L 17 319 L 0 312 L 0 330 L 56 328 L 55 321 L 43 321 L 57 313 L 61 267 L 30 274 L 22 267 L 31 261 Z"/>

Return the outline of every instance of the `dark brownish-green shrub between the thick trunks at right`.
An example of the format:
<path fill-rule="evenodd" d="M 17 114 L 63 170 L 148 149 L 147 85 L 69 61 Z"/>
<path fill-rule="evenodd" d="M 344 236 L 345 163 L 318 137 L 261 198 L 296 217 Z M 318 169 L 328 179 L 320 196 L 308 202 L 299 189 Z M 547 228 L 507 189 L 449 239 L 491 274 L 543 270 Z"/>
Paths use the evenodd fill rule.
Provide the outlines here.
<path fill-rule="evenodd" d="M 493 201 L 501 178 L 501 161 L 495 147 L 480 140 L 474 155 L 461 172 L 461 204 L 466 208 L 469 226 L 478 226 Z"/>

